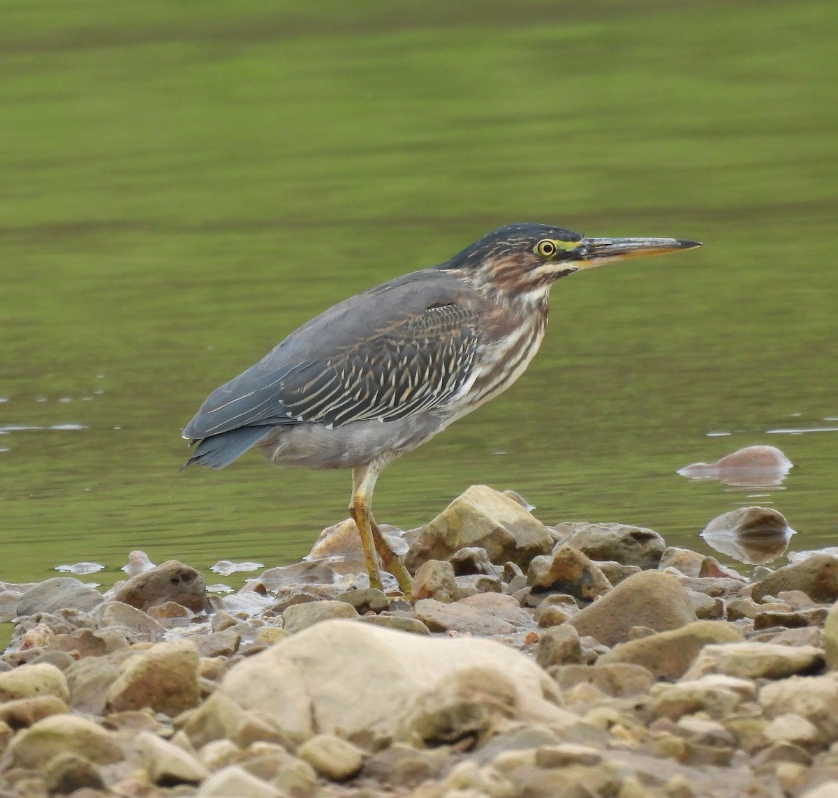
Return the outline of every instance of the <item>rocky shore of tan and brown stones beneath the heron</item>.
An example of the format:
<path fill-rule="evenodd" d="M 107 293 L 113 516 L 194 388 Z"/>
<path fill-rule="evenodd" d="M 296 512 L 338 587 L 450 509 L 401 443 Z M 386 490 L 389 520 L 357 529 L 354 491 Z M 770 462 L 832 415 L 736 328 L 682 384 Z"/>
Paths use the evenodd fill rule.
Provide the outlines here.
<path fill-rule="evenodd" d="M 832 554 L 746 577 L 482 486 L 388 534 L 411 596 L 351 522 L 222 597 L 2 584 L 0 798 L 838 795 Z"/>

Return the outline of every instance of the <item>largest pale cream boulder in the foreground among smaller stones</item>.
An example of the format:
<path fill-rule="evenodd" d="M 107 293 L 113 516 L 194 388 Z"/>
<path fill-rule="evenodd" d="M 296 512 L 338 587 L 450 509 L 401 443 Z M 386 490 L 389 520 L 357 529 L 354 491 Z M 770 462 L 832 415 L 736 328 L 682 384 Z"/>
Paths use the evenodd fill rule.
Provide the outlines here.
<path fill-rule="evenodd" d="M 438 744 L 516 720 L 577 723 L 560 704 L 546 672 L 499 643 L 327 620 L 236 664 L 183 722 L 201 744 L 235 734 L 252 712 L 297 742 L 319 733 Z"/>

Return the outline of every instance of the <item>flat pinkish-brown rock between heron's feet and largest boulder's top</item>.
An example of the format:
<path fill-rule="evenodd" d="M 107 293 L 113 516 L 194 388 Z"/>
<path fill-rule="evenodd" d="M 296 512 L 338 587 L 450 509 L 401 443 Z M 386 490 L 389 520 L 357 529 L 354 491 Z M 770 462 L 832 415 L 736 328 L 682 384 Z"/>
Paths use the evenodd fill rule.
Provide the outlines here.
<path fill-rule="evenodd" d="M 532 626 L 532 618 L 509 595 L 479 593 L 442 604 L 433 599 L 416 602 L 416 620 L 430 631 L 459 631 L 473 635 L 509 635 L 523 626 Z"/>

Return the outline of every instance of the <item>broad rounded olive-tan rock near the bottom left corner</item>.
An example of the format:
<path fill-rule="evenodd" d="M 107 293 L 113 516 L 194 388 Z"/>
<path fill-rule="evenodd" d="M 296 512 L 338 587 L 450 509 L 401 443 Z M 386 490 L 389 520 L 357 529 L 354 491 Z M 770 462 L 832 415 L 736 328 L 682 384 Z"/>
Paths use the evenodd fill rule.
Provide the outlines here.
<path fill-rule="evenodd" d="M 99 765 L 122 759 L 114 735 L 76 715 L 39 720 L 18 732 L 8 746 L 9 759 L 22 768 L 41 768 L 58 754 L 75 754 Z"/>

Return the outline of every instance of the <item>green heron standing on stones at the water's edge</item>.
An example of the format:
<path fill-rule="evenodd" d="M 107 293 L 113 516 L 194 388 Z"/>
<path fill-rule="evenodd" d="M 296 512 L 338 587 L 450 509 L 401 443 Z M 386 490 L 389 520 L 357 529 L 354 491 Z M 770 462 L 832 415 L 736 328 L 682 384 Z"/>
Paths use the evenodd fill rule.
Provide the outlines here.
<path fill-rule="evenodd" d="M 377 551 L 408 592 L 410 574 L 372 516 L 381 470 L 524 373 L 559 277 L 697 246 L 547 224 L 496 229 L 445 263 L 339 302 L 215 389 L 184 429 L 198 442 L 186 465 L 223 468 L 256 446 L 278 466 L 351 468 L 370 585 L 381 588 Z"/>

